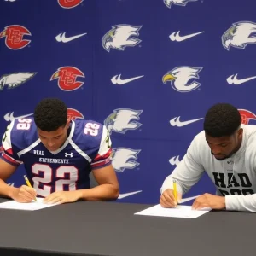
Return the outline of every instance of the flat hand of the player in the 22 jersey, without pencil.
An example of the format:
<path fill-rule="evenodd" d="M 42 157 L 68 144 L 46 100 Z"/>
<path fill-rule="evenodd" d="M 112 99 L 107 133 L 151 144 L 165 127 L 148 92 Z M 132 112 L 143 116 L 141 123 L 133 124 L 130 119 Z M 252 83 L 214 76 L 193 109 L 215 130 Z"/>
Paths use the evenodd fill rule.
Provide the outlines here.
<path fill-rule="evenodd" d="M 79 200 L 79 190 L 76 191 L 57 191 L 44 198 L 46 204 L 63 204 Z"/>

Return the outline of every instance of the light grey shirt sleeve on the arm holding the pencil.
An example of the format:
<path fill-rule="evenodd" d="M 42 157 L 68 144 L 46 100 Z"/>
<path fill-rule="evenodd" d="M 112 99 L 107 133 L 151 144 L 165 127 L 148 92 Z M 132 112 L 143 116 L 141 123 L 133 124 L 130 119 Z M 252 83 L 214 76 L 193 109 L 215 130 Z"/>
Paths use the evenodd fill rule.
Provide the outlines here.
<path fill-rule="evenodd" d="M 173 179 L 177 182 L 177 191 L 184 195 L 189 189 L 197 183 L 203 172 L 203 166 L 200 161 L 200 137 L 195 137 L 190 143 L 187 153 L 183 160 L 173 170 L 172 174 L 166 177 L 160 193 L 162 194 L 166 189 L 173 189 Z"/>

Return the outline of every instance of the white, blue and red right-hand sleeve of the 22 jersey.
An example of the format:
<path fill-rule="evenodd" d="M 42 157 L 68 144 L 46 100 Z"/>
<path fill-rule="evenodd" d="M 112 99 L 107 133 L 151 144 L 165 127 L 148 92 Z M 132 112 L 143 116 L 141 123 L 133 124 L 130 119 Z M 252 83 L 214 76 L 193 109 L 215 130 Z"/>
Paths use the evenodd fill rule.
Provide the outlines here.
<path fill-rule="evenodd" d="M 112 142 L 105 125 L 102 127 L 102 138 L 96 157 L 91 161 L 91 169 L 99 169 L 111 164 Z"/>

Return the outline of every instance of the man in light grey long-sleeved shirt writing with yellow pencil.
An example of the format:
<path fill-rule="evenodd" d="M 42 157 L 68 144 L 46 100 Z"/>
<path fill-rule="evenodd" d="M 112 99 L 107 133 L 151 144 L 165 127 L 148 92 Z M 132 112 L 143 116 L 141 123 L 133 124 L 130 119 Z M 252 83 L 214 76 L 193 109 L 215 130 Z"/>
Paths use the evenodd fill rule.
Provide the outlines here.
<path fill-rule="evenodd" d="M 215 184 L 216 195 L 204 194 L 193 209 L 256 212 L 256 126 L 242 125 L 239 111 L 230 104 L 216 104 L 207 111 L 204 131 L 195 136 L 183 160 L 161 187 L 160 205 L 176 207 L 203 172 Z M 173 196 L 177 182 L 177 201 Z"/>

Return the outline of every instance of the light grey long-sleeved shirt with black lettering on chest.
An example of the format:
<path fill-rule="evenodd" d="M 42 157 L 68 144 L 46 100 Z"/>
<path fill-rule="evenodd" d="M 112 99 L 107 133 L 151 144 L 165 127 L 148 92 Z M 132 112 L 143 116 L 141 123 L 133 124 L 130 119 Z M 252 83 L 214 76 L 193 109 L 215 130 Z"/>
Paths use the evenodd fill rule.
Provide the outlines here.
<path fill-rule="evenodd" d="M 203 172 L 207 172 L 216 186 L 217 195 L 225 196 L 227 210 L 256 212 L 256 126 L 241 125 L 241 128 L 241 147 L 225 160 L 217 160 L 211 154 L 204 131 L 196 135 L 183 160 L 166 177 L 161 193 L 173 188 L 174 178 L 178 192 L 185 194 Z"/>

